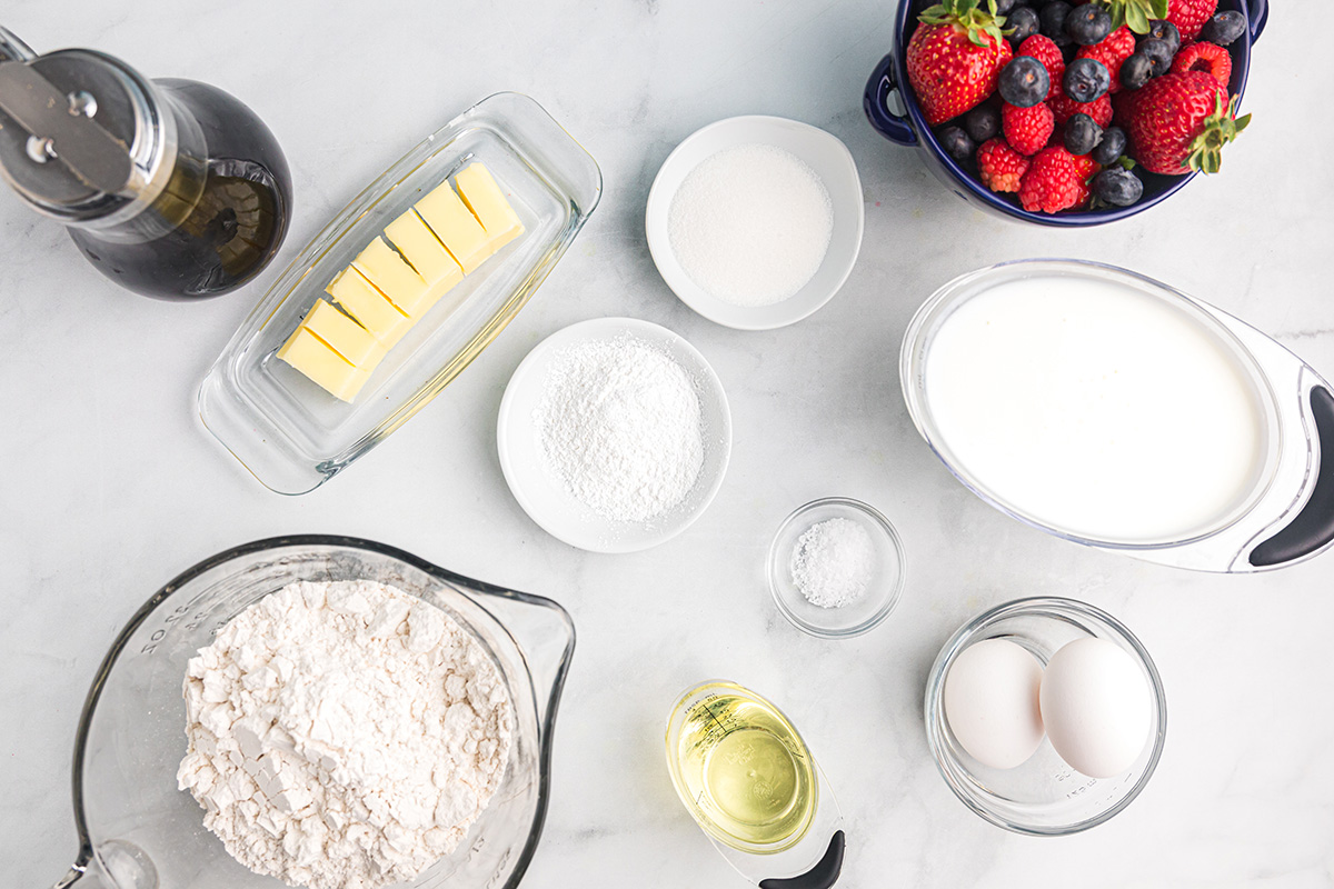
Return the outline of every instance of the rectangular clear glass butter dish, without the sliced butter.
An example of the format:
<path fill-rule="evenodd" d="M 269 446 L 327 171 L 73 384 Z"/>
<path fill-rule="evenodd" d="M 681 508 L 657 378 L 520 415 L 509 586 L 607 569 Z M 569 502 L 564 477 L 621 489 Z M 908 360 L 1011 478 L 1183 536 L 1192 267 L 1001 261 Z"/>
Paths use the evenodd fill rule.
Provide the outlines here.
<path fill-rule="evenodd" d="M 340 401 L 276 357 L 329 281 L 435 187 L 486 165 L 524 232 L 466 276 Z M 273 283 L 204 377 L 204 425 L 265 486 L 313 490 L 420 411 L 504 329 L 602 196 L 598 164 L 532 99 L 491 96 L 427 136 Z"/>

